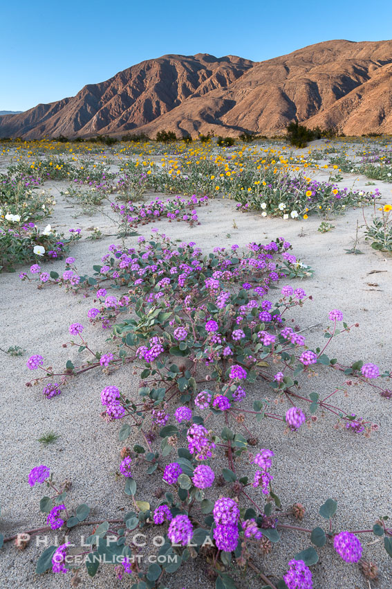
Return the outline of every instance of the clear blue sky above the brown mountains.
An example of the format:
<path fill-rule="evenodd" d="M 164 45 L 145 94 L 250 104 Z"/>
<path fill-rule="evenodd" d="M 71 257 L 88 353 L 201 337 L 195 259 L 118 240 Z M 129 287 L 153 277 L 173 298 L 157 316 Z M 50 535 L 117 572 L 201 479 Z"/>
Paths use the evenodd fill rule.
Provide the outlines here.
<path fill-rule="evenodd" d="M 0 23 L 0 110 L 26 110 L 166 53 L 261 61 L 330 39 L 391 39 L 392 2 L 6 0 Z"/>

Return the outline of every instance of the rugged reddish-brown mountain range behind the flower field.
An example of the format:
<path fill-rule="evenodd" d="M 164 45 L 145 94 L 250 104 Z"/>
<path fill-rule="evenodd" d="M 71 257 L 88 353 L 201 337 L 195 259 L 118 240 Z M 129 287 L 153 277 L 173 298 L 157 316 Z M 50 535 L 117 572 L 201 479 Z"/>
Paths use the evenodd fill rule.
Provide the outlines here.
<path fill-rule="evenodd" d="M 271 135 L 295 120 L 346 134 L 392 133 L 392 41 L 329 41 L 264 62 L 165 55 L 73 98 L 2 116 L 0 137 Z"/>

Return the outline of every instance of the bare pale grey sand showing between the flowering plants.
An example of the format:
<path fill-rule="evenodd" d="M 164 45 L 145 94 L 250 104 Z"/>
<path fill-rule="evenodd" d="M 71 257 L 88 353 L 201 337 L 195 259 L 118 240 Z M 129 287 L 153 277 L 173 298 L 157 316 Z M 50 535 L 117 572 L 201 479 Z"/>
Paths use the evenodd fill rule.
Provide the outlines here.
<path fill-rule="evenodd" d="M 346 175 L 348 178 L 349 175 Z M 353 179 L 353 178 L 352 178 Z M 368 189 L 366 179 L 360 178 L 359 189 Z M 342 182 L 342 185 L 349 185 Z M 391 185 L 375 182 L 384 195 L 385 202 L 391 202 Z M 59 195 L 65 184 L 46 183 L 46 190 L 56 196 L 57 205 L 53 218 L 49 220 L 59 231 L 69 227 L 80 227 L 84 237 L 71 252 L 77 259 L 78 271 L 82 274 L 92 270 L 109 244 L 115 243 L 112 236 L 98 241 L 86 240 L 88 227 L 99 226 L 104 234 L 114 234 L 115 228 L 104 216 L 78 216 L 74 218 L 77 206 L 70 206 Z M 375 186 L 371 186 L 372 189 Z M 216 245 L 241 247 L 256 241 L 284 236 L 293 246 L 293 253 L 309 264 L 315 274 L 306 281 L 292 281 L 292 285 L 303 287 L 313 300 L 295 315 L 301 328 L 314 324 L 320 326 L 306 331 L 307 344 L 316 346 L 325 341 L 324 329 L 328 326 L 328 311 L 339 308 L 346 322 L 359 322 L 360 327 L 350 334 L 333 340 L 330 356 L 336 356 L 342 363 L 362 359 L 378 364 L 382 369 L 392 367 L 392 258 L 375 252 L 362 240 L 358 246 L 363 255 L 348 255 L 344 249 L 353 245 L 357 220 L 363 223 L 362 210 L 350 210 L 345 216 L 335 218 L 335 229 L 326 234 L 317 231 L 320 220 L 310 218 L 306 222 L 263 219 L 249 213 L 235 211 L 235 203 L 216 199 L 198 211 L 200 225 L 189 229 L 181 222 L 156 223 L 162 232 L 178 240 L 194 240 L 209 252 Z M 371 211 L 368 211 L 370 216 Z M 237 226 L 233 228 L 233 220 Z M 150 227 L 140 227 L 140 234 L 149 236 Z M 129 238 L 134 245 L 137 238 Z M 48 265 L 46 267 L 49 267 Z M 54 262 L 50 269 L 61 271 L 64 263 Z M 21 267 L 28 270 L 28 267 Z M 44 489 L 28 486 L 28 473 L 37 464 L 50 466 L 55 480 L 65 478 L 73 481 L 68 494 L 70 507 L 86 502 L 91 507 L 91 518 L 121 518 L 132 509 L 131 500 L 124 495 L 123 480 L 116 480 L 115 470 L 120 462 L 119 450 L 124 445 L 118 441 L 119 423 L 104 423 L 100 418 L 100 391 L 106 385 L 117 385 L 122 390 L 136 394 L 138 377 L 130 367 L 116 371 L 110 376 L 100 370 L 86 373 L 71 380 L 64 387 L 62 395 L 47 401 L 42 397 L 41 386 L 27 388 L 25 383 L 33 375 L 26 367 L 26 360 L 32 354 L 44 356 L 46 365 L 60 369 L 66 360 L 78 364 L 86 358 L 76 348 L 62 344 L 69 342 L 68 326 L 80 322 L 86 326 L 86 339 L 95 349 L 109 351 L 113 344 L 106 343 L 106 333 L 88 324 L 86 312 L 93 306 L 92 299 L 66 294 L 57 288 L 37 290 L 35 285 L 21 283 L 16 274 L 1 274 L 1 348 L 21 346 L 26 350 L 20 358 L 1 353 L 3 378 L 1 379 L 1 520 L 0 530 L 5 536 L 45 524 L 45 516 L 39 513 L 39 499 Z M 315 390 L 320 393 L 332 392 L 333 387 L 342 386 L 344 380 L 337 373 L 320 369 L 319 378 L 304 383 L 302 392 Z M 391 387 L 390 387 L 391 388 Z M 265 385 L 257 381 L 248 392 L 245 401 L 252 406 L 254 398 L 268 394 Z M 380 426 L 370 439 L 335 430 L 335 419 L 326 415 L 311 429 L 298 434 L 283 435 L 283 426 L 278 422 L 252 424 L 252 431 L 259 437 L 260 448 L 271 448 L 274 459 L 274 489 L 288 508 L 295 501 L 306 505 L 304 527 L 325 526 L 318 515 L 319 506 L 329 497 L 338 501 L 339 507 L 334 518 L 336 529 L 371 528 L 377 517 L 392 516 L 391 511 L 391 434 L 392 401 L 388 401 L 369 387 L 355 387 L 346 398 L 338 394 L 336 403 L 348 412 L 355 412 Z M 281 406 L 281 412 L 287 409 Z M 218 424 L 219 425 L 219 424 Z M 217 427 L 218 427 L 217 425 Z M 54 430 L 60 438 L 54 445 L 44 448 L 37 439 Z M 132 440 L 129 439 L 129 445 Z M 136 441 L 136 439 L 135 439 Z M 220 463 L 219 463 L 220 464 Z M 222 463 L 222 466 L 223 463 Z M 252 472 L 247 464 L 241 467 L 243 473 Z M 162 481 L 157 473 L 145 477 L 138 473 L 138 499 L 157 500 L 152 493 Z M 219 489 L 220 493 L 225 490 Z M 208 496 L 208 495 L 207 495 Z M 213 498 L 213 494 L 211 497 Z M 260 494 L 253 497 L 260 500 Z M 262 502 L 262 500 L 261 500 Z M 287 523 L 294 523 L 286 518 Z M 80 541 L 80 534 L 91 529 L 73 531 L 73 542 Z M 53 539 L 54 533 L 51 538 Z M 259 568 L 271 579 L 286 572 L 288 560 L 299 550 L 310 545 L 303 534 L 282 531 L 282 542 L 268 556 L 256 556 Z M 62 535 L 59 534 L 59 540 Z M 374 560 L 380 566 L 380 579 L 368 583 L 356 565 L 346 565 L 331 547 L 317 549 L 319 563 L 312 567 L 315 589 L 390 589 L 392 587 L 392 559 L 386 554 L 375 536 L 362 536 L 364 557 Z M 50 542 L 51 543 L 51 542 Z M 43 547 L 30 545 L 24 552 L 18 552 L 8 544 L 0 554 L 0 586 L 15 588 L 63 588 L 69 586 L 69 575 L 35 574 L 35 563 Z M 277 575 L 277 577 L 273 577 Z M 239 588 L 261 587 L 263 583 L 250 571 L 237 577 Z M 86 572 L 82 575 L 82 588 L 107 588 L 129 586 L 129 580 L 118 581 L 112 566 L 100 568 L 91 580 Z M 165 577 L 169 589 L 196 589 L 203 586 L 212 589 L 214 583 L 205 576 L 205 566 L 191 561 L 173 577 Z"/>

